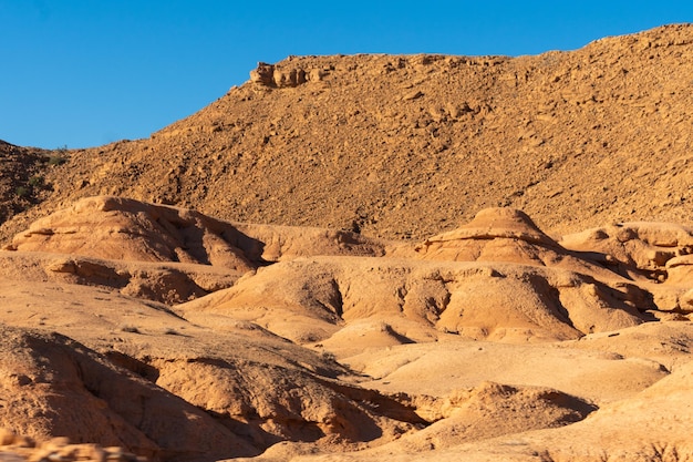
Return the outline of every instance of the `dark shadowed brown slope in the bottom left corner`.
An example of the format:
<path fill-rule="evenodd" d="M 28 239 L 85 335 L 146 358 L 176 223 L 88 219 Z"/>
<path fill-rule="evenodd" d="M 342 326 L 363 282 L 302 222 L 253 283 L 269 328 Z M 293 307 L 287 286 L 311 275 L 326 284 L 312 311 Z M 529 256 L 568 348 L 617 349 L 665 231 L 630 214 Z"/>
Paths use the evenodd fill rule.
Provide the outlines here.
<path fill-rule="evenodd" d="M 2 327 L 0 427 L 178 461 L 255 450 L 211 417 L 61 336 Z M 156 419 L 152 417 L 157 415 Z"/>

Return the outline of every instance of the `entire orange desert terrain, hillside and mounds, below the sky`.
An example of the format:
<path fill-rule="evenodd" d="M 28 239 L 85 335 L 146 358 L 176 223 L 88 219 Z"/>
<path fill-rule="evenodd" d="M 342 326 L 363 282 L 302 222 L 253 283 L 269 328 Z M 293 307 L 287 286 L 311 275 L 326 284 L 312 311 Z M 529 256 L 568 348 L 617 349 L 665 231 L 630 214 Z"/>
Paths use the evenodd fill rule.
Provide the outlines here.
<path fill-rule="evenodd" d="M 292 57 L 0 143 L 0 461 L 693 460 L 691 47 Z"/>

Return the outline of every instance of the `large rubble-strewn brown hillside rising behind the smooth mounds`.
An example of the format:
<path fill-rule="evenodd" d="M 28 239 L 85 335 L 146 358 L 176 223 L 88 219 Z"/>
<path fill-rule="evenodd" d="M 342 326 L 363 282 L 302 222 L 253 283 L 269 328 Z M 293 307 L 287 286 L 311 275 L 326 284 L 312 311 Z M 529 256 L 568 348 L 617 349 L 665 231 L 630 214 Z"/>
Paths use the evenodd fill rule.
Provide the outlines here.
<path fill-rule="evenodd" d="M 71 152 L 1 236 L 100 194 L 387 238 L 489 206 L 551 235 L 690 223 L 691 75 L 687 24 L 536 57 L 291 57 L 147 140 Z"/>

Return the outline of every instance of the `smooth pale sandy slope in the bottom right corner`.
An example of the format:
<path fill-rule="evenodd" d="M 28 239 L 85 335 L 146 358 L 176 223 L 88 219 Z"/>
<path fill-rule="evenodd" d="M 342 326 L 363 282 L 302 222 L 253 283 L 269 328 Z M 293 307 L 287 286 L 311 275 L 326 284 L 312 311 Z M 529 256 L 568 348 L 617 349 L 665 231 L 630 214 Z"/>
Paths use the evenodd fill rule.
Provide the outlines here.
<path fill-rule="evenodd" d="M 435 450 L 434 444 L 418 444 L 406 450 L 402 446 L 390 446 L 387 452 L 375 449 L 362 453 L 304 455 L 283 460 L 352 462 L 387 458 L 391 461 L 452 462 L 459 460 L 459 454 L 464 454 L 465 460 L 474 462 L 597 462 L 604 459 L 634 462 L 687 461 L 693 450 L 687 431 L 691 424 L 686 398 L 690 383 L 691 365 L 687 365 L 641 394 L 601 408 L 588 419 L 560 429 L 519 432 L 454 444 L 441 450 Z M 624 422 L 632 423 L 632 429 L 624 431 Z"/>

